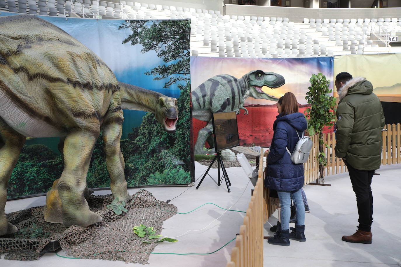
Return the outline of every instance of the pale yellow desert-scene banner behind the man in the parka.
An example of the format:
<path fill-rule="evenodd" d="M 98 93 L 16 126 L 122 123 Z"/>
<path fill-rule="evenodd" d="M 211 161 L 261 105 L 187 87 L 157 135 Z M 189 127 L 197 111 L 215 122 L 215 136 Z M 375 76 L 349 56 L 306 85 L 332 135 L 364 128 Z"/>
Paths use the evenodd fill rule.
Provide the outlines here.
<path fill-rule="evenodd" d="M 401 122 L 401 54 L 345 55 L 334 58 L 334 76 L 349 72 L 365 77 L 379 96 L 386 124 Z M 338 97 L 337 93 L 335 93 Z"/>

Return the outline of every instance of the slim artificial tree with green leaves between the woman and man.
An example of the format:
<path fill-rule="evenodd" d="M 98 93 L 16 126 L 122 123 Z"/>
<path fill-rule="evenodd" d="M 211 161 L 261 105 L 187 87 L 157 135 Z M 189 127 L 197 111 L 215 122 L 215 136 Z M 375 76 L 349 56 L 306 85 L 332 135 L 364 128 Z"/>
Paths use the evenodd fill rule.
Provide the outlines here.
<path fill-rule="evenodd" d="M 324 151 L 323 128 L 325 126 L 333 126 L 336 121 L 334 115 L 336 98 L 329 94 L 333 91 L 328 88 L 330 80 L 326 79 L 322 73 L 312 74 L 310 78 L 311 86 L 308 87 L 309 91 L 306 93 L 305 99 L 308 100 L 310 108 L 304 112 L 308 119 L 308 130 L 311 133 L 318 134 L 319 138 L 319 153 L 317 155 L 319 162 L 319 181 L 324 183 L 324 166 L 327 164 L 326 153 Z M 326 145 L 327 147 L 327 145 Z"/>

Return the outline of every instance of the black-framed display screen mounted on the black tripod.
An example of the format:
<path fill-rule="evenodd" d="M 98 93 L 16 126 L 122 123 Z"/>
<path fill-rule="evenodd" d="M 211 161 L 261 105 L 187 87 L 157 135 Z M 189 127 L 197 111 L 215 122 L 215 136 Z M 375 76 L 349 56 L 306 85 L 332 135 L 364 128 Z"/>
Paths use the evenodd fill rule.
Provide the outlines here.
<path fill-rule="evenodd" d="M 237 114 L 217 112 L 212 115 L 215 150 L 222 151 L 239 146 Z"/>

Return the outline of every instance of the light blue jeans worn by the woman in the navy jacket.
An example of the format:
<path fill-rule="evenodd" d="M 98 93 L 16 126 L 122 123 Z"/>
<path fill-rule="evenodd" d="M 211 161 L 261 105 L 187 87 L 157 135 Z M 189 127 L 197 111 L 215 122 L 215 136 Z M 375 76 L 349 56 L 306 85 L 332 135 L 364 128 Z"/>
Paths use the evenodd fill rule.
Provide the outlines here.
<path fill-rule="evenodd" d="M 297 225 L 305 224 L 305 206 L 302 201 L 301 190 L 285 192 L 277 191 L 278 198 L 280 199 L 281 206 L 281 229 L 290 229 L 290 217 L 291 217 L 291 195 L 294 197 L 295 206 L 297 209 Z"/>

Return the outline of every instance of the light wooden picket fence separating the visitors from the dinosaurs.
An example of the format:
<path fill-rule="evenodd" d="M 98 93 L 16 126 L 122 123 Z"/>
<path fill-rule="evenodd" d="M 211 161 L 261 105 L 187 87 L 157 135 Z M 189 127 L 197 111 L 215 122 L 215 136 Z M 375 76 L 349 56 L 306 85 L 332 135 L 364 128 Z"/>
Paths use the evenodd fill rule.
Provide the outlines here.
<path fill-rule="evenodd" d="M 400 124 L 387 124 L 382 131 L 383 153 L 382 165 L 401 163 L 401 126 Z M 319 152 L 318 137 L 311 137 L 313 147 L 308 161 L 305 163 L 305 184 L 311 183 L 319 177 L 319 164 L 316 155 Z M 335 134 L 324 135 L 324 143 L 328 145 L 326 149 L 327 165 L 325 176 L 344 173 L 347 171 L 344 162 L 335 157 L 334 148 L 336 147 Z M 264 157 L 263 157 L 264 156 Z M 259 162 L 258 180 L 249 202 L 249 207 L 245 214 L 243 225 L 239 228 L 239 235 L 235 240 L 235 247 L 231 252 L 231 261 L 227 267 L 261 267 L 263 266 L 263 224 L 277 209 L 269 196 L 269 189 L 264 186 L 265 167 L 263 159 L 267 153 L 261 152 Z"/>

